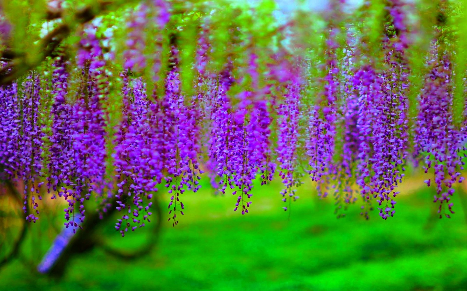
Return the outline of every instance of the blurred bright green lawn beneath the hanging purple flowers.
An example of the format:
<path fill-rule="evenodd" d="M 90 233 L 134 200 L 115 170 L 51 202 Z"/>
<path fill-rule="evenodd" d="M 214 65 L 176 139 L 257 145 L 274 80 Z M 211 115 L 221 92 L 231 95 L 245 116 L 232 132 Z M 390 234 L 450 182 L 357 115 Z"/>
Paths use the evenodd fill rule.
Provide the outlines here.
<path fill-rule="evenodd" d="M 467 290 L 467 196 L 455 195 L 456 214 L 439 219 L 434 189 L 407 180 L 396 216 L 383 221 L 375 210 L 366 221 L 358 204 L 337 219 L 333 197 L 319 200 L 308 184 L 290 218 L 281 209 L 280 182 L 255 186 L 245 216 L 233 212 L 235 197 L 213 196 L 204 186 L 184 194 L 186 212 L 176 227 L 163 212 L 149 255 L 122 260 L 95 248 L 73 257 L 61 280 L 35 271 L 54 237 L 42 219 L 20 258 L 0 270 L 0 290 Z M 144 244 L 150 231 L 122 238 L 112 224 L 101 231 L 123 250 Z"/>

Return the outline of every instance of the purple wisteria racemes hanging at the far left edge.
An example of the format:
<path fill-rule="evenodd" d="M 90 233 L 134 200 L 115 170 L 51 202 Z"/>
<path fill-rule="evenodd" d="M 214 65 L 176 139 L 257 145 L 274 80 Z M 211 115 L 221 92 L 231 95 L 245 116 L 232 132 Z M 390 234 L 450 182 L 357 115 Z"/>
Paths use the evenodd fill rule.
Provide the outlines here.
<path fill-rule="evenodd" d="M 35 223 L 39 214 L 38 200 L 42 200 L 39 188 L 44 184 L 40 181 L 43 136 L 39 122 L 40 75 L 32 72 L 23 82 L 2 87 L 0 98 L 4 124 L 0 130 L 1 178 L 22 180 L 26 220 Z"/>

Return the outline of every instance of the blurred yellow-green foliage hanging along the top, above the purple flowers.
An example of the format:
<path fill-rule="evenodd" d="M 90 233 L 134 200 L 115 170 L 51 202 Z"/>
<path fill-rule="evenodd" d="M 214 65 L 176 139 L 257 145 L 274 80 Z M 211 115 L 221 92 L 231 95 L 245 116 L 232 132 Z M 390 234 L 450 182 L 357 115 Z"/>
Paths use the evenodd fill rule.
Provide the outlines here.
<path fill-rule="evenodd" d="M 113 34 L 112 47 L 115 49 L 115 60 L 113 66 L 121 68 L 123 58 L 122 52 L 126 47 L 126 21 L 129 12 L 138 9 L 138 0 L 124 1 L 115 0 L 112 4 L 102 6 L 102 1 L 64 1 L 63 23 L 66 24 L 71 33 L 63 41 L 62 47 L 72 57 L 76 53 L 76 44 L 80 39 L 82 27 L 79 26 L 80 19 L 77 14 L 85 7 L 89 13 L 102 15 L 101 25 L 98 28 L 99 38 Z M 438 25 L 441 18 L 446 24 L 446 29 L 452 29 L 453 33 L 443 33 L 443 38 L 452 42 L 454 66 L 454 102 L 453 117 L 454 124 L 459 126 L 465 103 L 465 77 L 467 65 L 467 20 L 463 14 L 441 15 L 438 2 L 420 0 L 415 2 L 411 17 L 410 38 L 411 46 L 405 50 L 406 60 L 410 67 L 409 99 L 409 121 L 416 117 L 417 95 L 423 86 L 425 67 L 425 56 L 429 50 L 434 35 L 433 26 Z M 461 7 L 466 5 L 461 1 Z M 170 1 L 172 6 L 172 17 L 167 28 L 162 31 L 155 23 L 149 23 L 145 29 L 145 55 L 154 54 L 155 58 L 147 58 L 148 66 L 141 74 L 148 80 L 148 91 L 156 89 L 156 95 L 163 93 L 163 80 L 167 74 L 166 68 L 169 64 L 170 38 L 175 37 L 180 47 L 180 74 L 182 89 L 188 95 L 193 94 L 195 82 L 195 70 L 193 69 L 196 54 L 197 36 L 200 24 L 205 23 L 209 30 L 208 42 L 211 45 L 208 51 L 209 72 L 220 72 L 228 61 L 233 62 L 233 74 L 238 79 L 242 77 L 242 85 L 237 91 L 249 88 L 249 76 L 245 74 L 248 54 L 255 53 L 260 73 L 267 72 L 266 63 L 270 60 L 271 53 L 285 48 L 287 52 L 297 58 L 303 57 L 313 64 L 308 68 L 308 80 L 303 102 L 313 104 L 316 102 L 319 92 L 322 91 L 322 77 L 325 75 L 324 64 L 325 39 L 330 27 L 338 31 L 335 36 L 340 44 L 336 51 L 338 58 L 343 56 L 342 48 L 346 47 L 346 34 L 353 34 L 359 43 L 361 52 L 357 54 L 357 64 L 372 63 L 375 67 L 382 65 L 381 40 L 385 33 L 385 26 L 389 23 L 389 14 L 385 8 L 384 0 L 370 1 L 362 5 L 352 14 L 334 13 L 339 17 L 329 17 L 327 14 L 314 14 L 299 8 L 292 16 L 293 25 L 290 26 L 291 34 L 285 36 L 284 27 L 277 22 L 274 11 L 277 9 L 274 0 L 261 0 L 253 7 L 243 1 L 215 1 L 205 2 L 202 0 Z M 459 5 L 459 4 L 456 4 Z M 35 63 L 40 60 L 43 47 L 39 45 L 41 39 L 41 28 L 57 27 L 57 24 L 48 23 L 44 20 L 46 13 L 45 0 L 3 0 L 3 13 L 7 20 L 13 23 L 14 32 L 11 44 L 14 51 L 23 55 L 21 58 L 26 63 Z M 462 11 L 461 11 L 462 12 Z M 155 13 L 152 11 L 151 13 Z M 326 12 L 327 13 L 327 12 Z M 442 17 L 441 17 L 441 16 Z M 441 18 L 440 18 L 441 17 Z M 447 31 L 447 30 L 446 30 Z M 43 34 L 43 28 L 42 28 Z M 155 60 L 160 60 L 159 71 L 153 70 Z M 150 80 L 150 81 L 149 81 Z M 260 78 L 260 87 L 264 85 L 264 78 Z M 410 124 L 412 126 L 412 124 Z"/>

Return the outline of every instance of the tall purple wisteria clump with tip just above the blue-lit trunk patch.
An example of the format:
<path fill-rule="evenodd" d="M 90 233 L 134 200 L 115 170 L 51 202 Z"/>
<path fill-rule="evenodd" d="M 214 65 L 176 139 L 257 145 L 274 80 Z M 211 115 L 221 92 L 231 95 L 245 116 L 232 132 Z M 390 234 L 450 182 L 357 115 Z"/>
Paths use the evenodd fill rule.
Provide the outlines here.
<path fill-rule="evenodd" d="M 66 86 L 67 74 L 64 68 L 60 68 L 64 64 L 56 63 L 57 69 L 54 71 L 56 83 L 53 86 L 56 86 L 57 93 L 55 104 L 52 106 L 56 123 L 53 124 L 55 135 L 52 135 L 52 139 L 61 143 L 52 146 L 55 159 L 51 159 L 51 162 L 55 164 L 49 167 L 52 169 L 49 188 L 51 181 L 54 181 L 54 190 L 60 187 L 58 195 L 63 196 L 68 203 L 68 208 L 64 211 L 65 218 L 69 222 L 65 225 L 66 227 L 72 226 L 74 231 L 78 227 L 75 213 L 79 211 L 78 217 L 83 222 L 84 201 L 91 197 L 93 191 L 102 194 L 103 179 L 106 173 L 106 133 L 104 114 L 100 104 L 100 99 L 104 99 L 102 97 L 105 95 L 101 83 L 102 66 L 105 62 L 102 60 L 100 42 L 95 35 L 95 25 L 86 26 L 83 33 L 84 37 L 80 42 L 77 55 L 77 69 L 81 73 L 77 93 L 82 95 L 73 97 L 77 100 L 72 106 L 65 104 L 64 98 L 67 96 L 58 92 L 61 86 L 64 84 Z M 64 120 L 66 118 L 71 120 Z M 61 155 L 62 148 L 64 148 L 63 155 Z M 62 165 L 63 168 L 61 168 Z M 62 171 L 62 173 L 57 171 Z M 77 203 L 79 208 L 75 209 Z"/>

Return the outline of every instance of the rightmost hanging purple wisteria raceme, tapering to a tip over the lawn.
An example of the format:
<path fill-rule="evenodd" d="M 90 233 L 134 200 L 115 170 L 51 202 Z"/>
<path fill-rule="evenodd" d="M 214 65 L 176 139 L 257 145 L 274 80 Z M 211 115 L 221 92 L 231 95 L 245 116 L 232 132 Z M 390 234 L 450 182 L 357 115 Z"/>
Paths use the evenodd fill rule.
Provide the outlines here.
<path fill-rule="evenodd" d="M 452 124 L 453 74 L 450 57 L 437 42 L 433 43 L 428 66 L 431 71 L 419 96 L 415 154 L 424 158 L 422 168 L 425 173 L 433 171 L 433 177 L 425 180 L 425 183 L 430 186 L 433 181 L 436 185 L 434 202 L 440 203 L 439 216 L 444 214 L 450 217 L 447 211 L 454 213 L 450 201 L 450 196 L 454 194 L 453 185 L 464 180 L 459 172 L 463 166 L 463 155 L 459 152 L 465 150 L 465 137 Z"/>

